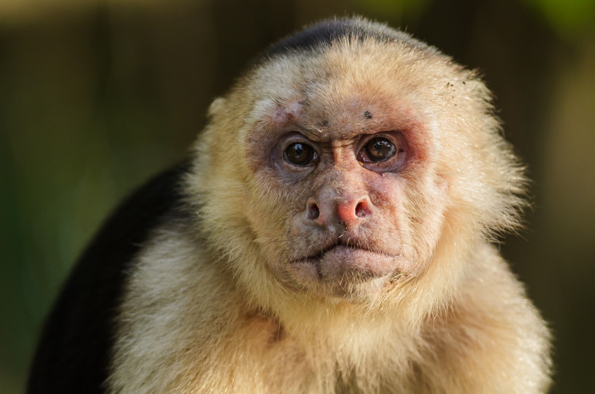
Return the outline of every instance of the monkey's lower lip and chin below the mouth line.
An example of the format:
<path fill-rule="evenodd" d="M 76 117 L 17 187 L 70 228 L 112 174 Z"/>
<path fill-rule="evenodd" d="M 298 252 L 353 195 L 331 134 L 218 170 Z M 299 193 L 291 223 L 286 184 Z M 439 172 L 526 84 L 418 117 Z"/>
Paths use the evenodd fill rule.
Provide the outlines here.
<path fill-rule="evenodd" d="M 331 298 L 351 299 L 380 292 L 399 272 L 399 257 L 346 245 L 289 263 L 289 276 L 304 289 Z"/>

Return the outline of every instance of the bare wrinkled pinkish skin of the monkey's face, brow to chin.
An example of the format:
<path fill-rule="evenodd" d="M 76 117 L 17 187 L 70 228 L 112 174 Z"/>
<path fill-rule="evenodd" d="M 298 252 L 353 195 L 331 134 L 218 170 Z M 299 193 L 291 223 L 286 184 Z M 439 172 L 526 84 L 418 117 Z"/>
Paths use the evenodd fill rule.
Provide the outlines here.
<path fill-rule="evenodd" d="M 372 96 L 323 104 L 331 111 L 337 108 L 327 114 L 295 99 L 281 102 L 268 108 L 258 137 L 249 140 L 248 152 L 261 152 L 256 176 L 275 182 L 271 189 L 284 189 L 277 209 L 286 212 L 285 220 L 273 233 L 285 248 L 280 256 L 277 242 L 267 245 L 271 237 L 263 248 L 275 257 L 275 276 L 289 287 L 361 295 L 423 268 L 419 254 L 428 251 L 416 250 L 409 240 L 416 236 L 410 222 L 423 220 L 424 214 L 412 212 L 408 202 L 419 199 L 418 187 L 441 199 L 444 188 L 439 180 L 424 184 L 418 175 L 431 149 L 421 142 L 424 125 L 405 105 L 381 100 Z M 375 152 L 374 143 L 386 152 Z M 303 162 L 288 157 L 296 144 L 306 149 L 297 157 Z M 427 205 L 423 211 L 433 212 L 430 223 L 439 221 L 441 207 L 431 206 L 427 193 L 421 194 Z M 436 237 L 430 234 L 429 239 L 434 243 Z"/>

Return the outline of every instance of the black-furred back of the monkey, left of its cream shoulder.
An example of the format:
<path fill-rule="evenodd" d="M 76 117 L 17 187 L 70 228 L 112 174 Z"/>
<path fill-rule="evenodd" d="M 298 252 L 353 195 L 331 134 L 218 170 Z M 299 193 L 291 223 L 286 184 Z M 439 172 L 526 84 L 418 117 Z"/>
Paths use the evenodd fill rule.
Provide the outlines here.
<path fill-rule="evenodd" d="M 159 174 L 118 207 L 84 250 L 46 318 L 28 393 L 102 393 L 130 262 L 162 223 L 184 220 L 189 164 Z"/>

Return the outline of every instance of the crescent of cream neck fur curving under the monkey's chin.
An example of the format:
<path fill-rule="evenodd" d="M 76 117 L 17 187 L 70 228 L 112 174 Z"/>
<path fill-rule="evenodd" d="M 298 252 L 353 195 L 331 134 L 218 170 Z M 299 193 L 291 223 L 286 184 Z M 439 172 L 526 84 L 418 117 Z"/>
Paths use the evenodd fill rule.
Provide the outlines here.
<path fill-rule="evenodd" d="M 472 250 L 466 253 L 466 259 L 475 254 Z M 458 293 L 459 282 L 466 274 L 465 270 L 456 267 L 468 265 L 453 260 L 458 253 L 459 248 L 455 246 L 437 249 L 433 261 L 428 264 L 431 270 L 387 289 L 386 294 L 359 302 L 292 293 L 278 285 L 260 293 L 241 291 L 246 292 L 244 299 L 250 300 L 249 310 L 253 317 L 270 321 L 277 327 L 279 338 L 292 337 L 305 344 L 305 348 L 317 343 L 319 347 L 347 351 L 346 343 L 354 343 L 357 349 L 374 349 L 383 343 L 394 342 L 395 332 L 403 338 L 403 346 L 411 346 L 417 342 L 415 338 L 421 338 L 424 325 L 431 316 L 452 307 L 449 300 Z M 262 264 L 255 264 L 258 265 L 262 267 Z M 433 284 L 430 286 L 425 282 Z M 251 290 L 255 287 L 240 288 Z"/>

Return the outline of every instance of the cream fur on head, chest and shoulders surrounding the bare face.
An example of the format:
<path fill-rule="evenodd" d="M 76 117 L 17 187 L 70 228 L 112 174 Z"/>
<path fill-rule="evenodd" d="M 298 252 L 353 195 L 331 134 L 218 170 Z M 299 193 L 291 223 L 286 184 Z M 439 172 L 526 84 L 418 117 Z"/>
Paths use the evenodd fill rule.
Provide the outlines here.
<path fill-rule="evenodd" d="M 352 297 L 274 273 L 292 253 L 293 196 L 254 152 L 275 108 L 305 99 L 312 130 L 318 114 L 353 122 L 359 102 L 424 125 L 424 160 L 399 181 L 407 269 Z M 546 392 L 549 333 L 488 243 L 518 226 L 525 183 L 489 100 L 473 73 L 407 41 L 342 40 L 249 71 L 196 143 L 196 217 L 156 230 L 135 261 L 111 392 Z"/>

